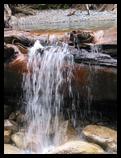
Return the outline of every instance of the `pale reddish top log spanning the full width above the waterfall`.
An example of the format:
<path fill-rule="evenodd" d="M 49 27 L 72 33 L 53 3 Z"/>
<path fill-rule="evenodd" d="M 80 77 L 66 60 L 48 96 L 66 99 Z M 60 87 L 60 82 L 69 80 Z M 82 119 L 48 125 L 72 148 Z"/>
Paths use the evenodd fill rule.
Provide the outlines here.
<path fill-rule="evenodd" d="M 25 45 L 31 46 L 35 40 L 39 39 L 43 43 L 52 43 L 52 40 L 72 42 L 75 45 L 74 38 L 77 38 L 78 44 L 85 45 L 101 45 L 101 44 L 116 44 L 117 42 L 117 31 L 116 28 L 111 28 L 108 30 L 99 31 L 89 31 L 89 30 L 77 30 L 72 32 L 25 32 L 25 31 L 4 31 L 4 41 L 6 43 L 11 43 L 13 39 L 18 40 L 17 42 Z"/>

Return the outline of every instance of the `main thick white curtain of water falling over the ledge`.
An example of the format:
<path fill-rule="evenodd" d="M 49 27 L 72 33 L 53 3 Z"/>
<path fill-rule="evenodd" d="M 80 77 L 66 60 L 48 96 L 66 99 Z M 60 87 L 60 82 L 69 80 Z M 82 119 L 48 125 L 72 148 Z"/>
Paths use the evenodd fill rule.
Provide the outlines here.
<path fill-rule="evenodd" d="M 28 131 L 25 142 L 30 150 L 36 148 L 36 153 L 44 153 L 51 146 L 57 146 L 64 141 L 66 126 L 63 128 L 63 89 L 64 83 L 71 90 L 73 55 L 68 45 L 50 46 L 42 51 L 42 45 L 36 41 L 29 50 L 28 70 L 23 77 L 23 89 L 26 101 L 26 119 Z M 36 143 L 35 143 L 36 142 Z"/>

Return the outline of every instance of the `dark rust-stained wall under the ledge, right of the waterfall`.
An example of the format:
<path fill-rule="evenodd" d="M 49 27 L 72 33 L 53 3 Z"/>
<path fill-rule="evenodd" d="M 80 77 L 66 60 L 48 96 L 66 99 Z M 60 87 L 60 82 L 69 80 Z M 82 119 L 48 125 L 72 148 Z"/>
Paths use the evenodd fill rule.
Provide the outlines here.
<path fill-rule="evenodd" d="M 114 122 L 117 113 L 117 70 L 75 65 L 73 73 L 72 92 L 78 120 L 108 118 L 110 122 Z M 68 97 L 66 86 L 63 86 L 62 94 L 65 103 L 63 113 L 66 113 L 67 109 L 67 114 L 69 111 L 73 115 L 72 98 Z"/>

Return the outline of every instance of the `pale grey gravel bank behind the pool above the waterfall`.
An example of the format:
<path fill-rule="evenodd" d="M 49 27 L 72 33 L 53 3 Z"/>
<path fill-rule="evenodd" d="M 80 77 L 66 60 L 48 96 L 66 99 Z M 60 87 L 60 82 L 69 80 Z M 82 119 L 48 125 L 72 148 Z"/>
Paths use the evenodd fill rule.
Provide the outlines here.
<path fill-rule="evenodd" d="M 43 10 L 34 16 L 25 16 L 12 20 L 14 29 L 19 30 L 66 30 L 66 29 L 107 29 L 117 25 L 117 13 L 112 11 L 76 11 L 75 15 L 67 16 L 73 11 L 67 10 Z"/>

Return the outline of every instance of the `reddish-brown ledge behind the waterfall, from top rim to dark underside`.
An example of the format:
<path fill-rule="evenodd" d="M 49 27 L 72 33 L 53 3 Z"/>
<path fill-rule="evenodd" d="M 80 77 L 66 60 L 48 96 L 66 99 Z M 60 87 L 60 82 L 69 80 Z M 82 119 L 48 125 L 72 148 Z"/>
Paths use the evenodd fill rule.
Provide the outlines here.
<path fill-rule="evenodd" d="M 5 116 L 7 116 L 6 109 L 8 114 L 11 112 L 10 105 L 13 111 L 21 106 L 22 77 L 23 73 L 28 72 L 28 50 L 36 40 L 39 40 L 45 49 L 49 49 L 50 46 L 56 44 L 61 47 L 62 42 L 69 44 L 70 52 L 75 60 L 72 87 L 75 96 L 77 96 L 76 93 L 78 92 L 78 95 L 82 98 L 77 108 L 81 106 L 82 109 L 88 109 L 87 106 L 90 101 L 91 111 L 96 109 L 96 111 L 102 112 L 104 116 L 109 116 L 111 120 L 116 118 L 117 45 L 114 42 L 116 41 L 115 31 L 114 28 L 95 32 L 86 30 L 83 31 L 84 33 L 82 30 L 54 33 L 5 31 Z M 78 49 L 77 44 L 79 46 Z M 65 94 L 64 100 L 69 105 L 71 104 L 71 98 L 68 98 L 66 85 L 64 84 L 62 87 L 62 92 Z M 91 94 L 91 98 L 87 100 L 89 94 Z M 85 100 L 87 100 L 86 103 Z M 87 106 L 84 106 L 85 104 Z M 108 111 L 109 108 L 110 113 Z"/>

